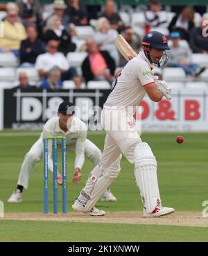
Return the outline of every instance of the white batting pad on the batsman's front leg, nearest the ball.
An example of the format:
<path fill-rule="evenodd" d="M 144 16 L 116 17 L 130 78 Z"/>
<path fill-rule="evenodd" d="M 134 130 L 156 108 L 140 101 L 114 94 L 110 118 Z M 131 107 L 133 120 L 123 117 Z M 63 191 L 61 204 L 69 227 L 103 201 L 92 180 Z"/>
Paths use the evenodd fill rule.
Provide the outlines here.
<path fill-rule="evenodd" d="M 146 142 L 138 143 L 134 152 L 135 178 L 146 212 L 160 207 L 161 200 L 157 182 L 157 161 Z"/>

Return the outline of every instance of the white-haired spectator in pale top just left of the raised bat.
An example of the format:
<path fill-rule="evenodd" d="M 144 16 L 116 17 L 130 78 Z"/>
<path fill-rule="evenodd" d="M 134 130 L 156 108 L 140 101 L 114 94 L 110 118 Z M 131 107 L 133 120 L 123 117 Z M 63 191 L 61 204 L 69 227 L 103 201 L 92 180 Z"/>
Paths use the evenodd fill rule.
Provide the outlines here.
<path fill-rule="evenodd" d="M 115 40 L 118 35 L 118 32 L 110 27 L 110 22 L 105 17 L 98 19 L 94 40 L 96 40 L 101 51 L 110 53 L 110 56 L 116 62 L 116 66 L 119 65 L 119 52 L 115 46 Z"/>

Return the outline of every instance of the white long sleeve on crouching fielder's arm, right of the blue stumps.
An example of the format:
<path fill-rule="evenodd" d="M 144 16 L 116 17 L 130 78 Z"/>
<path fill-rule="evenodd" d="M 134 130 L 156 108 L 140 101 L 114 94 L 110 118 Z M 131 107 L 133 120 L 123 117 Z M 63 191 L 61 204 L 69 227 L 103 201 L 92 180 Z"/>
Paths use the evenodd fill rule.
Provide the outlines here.
<path fill-rule="evenodd" d="M 75 162 L 74 162 L 74 169 L 79 168 L 82 169 L 83 164 L 85 162 L 85 139 L 87 137 L 87 131 L 83 131 L 80 133 L 80 137 L 76 140 L 76 147 L 75 147 Z"/>

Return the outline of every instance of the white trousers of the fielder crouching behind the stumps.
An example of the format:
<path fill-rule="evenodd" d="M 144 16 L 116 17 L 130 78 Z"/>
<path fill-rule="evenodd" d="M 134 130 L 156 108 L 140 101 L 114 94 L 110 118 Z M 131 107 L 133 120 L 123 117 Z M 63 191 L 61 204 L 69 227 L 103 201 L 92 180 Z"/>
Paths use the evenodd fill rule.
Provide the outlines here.
<path fill-rule="evenodd" d="M 67 145 L 67 151 L 74 151 L 75 144 Z M 43 154 L 43 137 L 37 139 L 37 142 L 33 144 L 31 149 L 26 153 L 23 163 L 21 164 L 21 170 L 19 173 L 19 178 L 17 185 L 23 186 L 25 189 L 28 188 L 28 181 L 33 171 L 35 162 L 40 161 Z M 100 149 L 89 139 L 85 140 L 85 157 L 91 160 L 96 166 L 101 160 Z M 53 160 L 49 157 L 49 170 L 53 171 Z"/>

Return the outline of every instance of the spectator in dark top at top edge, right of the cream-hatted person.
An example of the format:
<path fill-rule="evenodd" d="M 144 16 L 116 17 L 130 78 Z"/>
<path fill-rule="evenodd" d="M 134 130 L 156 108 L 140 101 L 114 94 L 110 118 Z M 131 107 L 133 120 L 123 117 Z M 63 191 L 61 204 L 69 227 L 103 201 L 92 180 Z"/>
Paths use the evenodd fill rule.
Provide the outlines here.
<path fill-rule="evenodd" d="M 76 26 L 88 25 L 87 12 L 80 0 L 67 0 L 67 9 L 64 16 L 70 17 L 70 23 Z"/>

